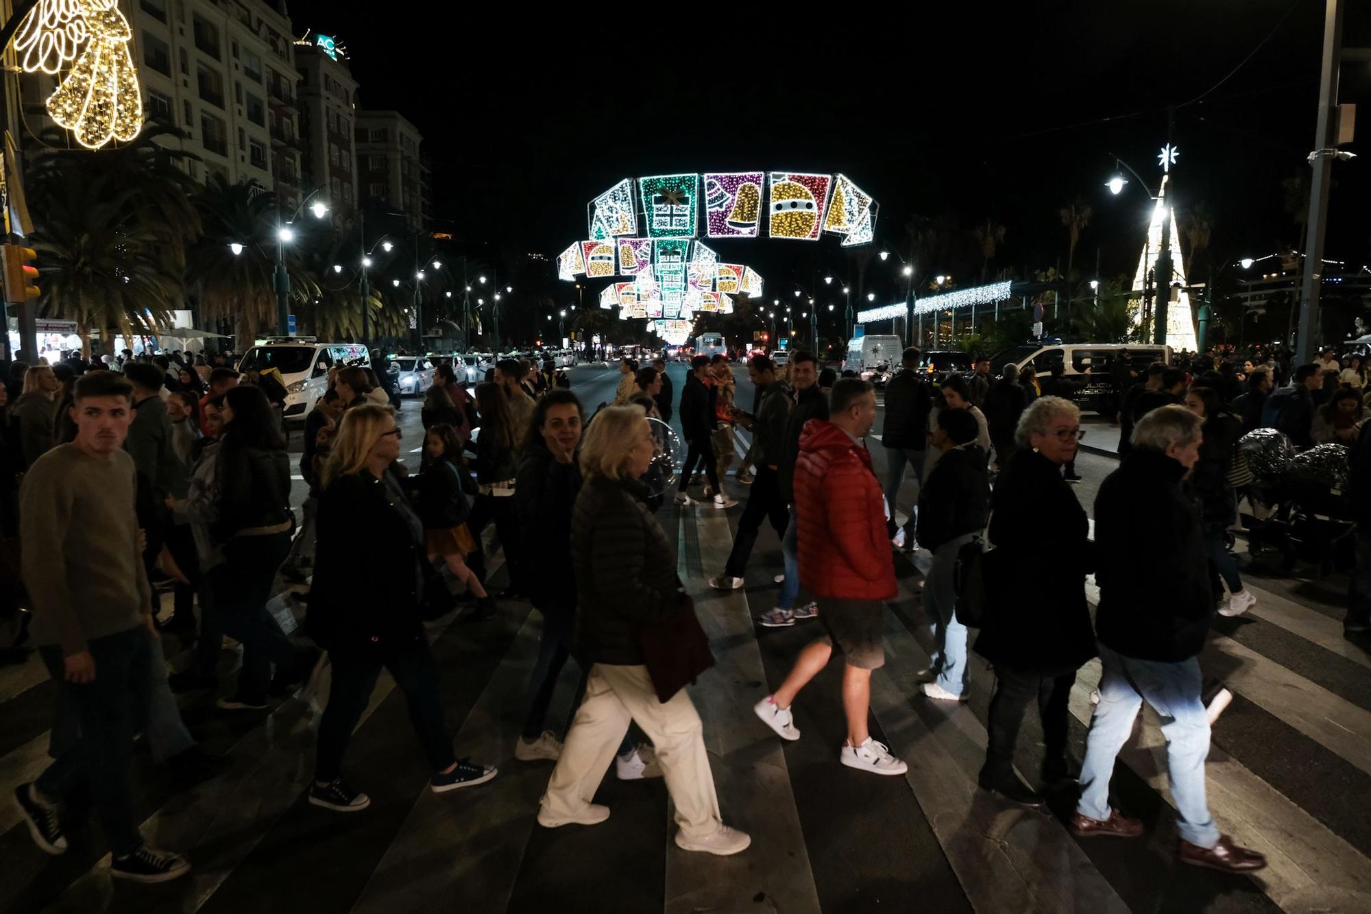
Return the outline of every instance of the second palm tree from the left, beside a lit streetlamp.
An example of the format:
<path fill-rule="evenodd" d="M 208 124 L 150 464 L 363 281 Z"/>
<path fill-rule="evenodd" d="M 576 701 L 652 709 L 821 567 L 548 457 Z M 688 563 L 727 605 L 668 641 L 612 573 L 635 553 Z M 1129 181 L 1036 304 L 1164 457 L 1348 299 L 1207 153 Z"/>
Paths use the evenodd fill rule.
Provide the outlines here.
<path fill-rule="evenodd" d="M 229 184 L 215 176 L 195 198 L 203 235 L 191 250 L 188 274 L 200 287 L 207 316 L 237 320 L 237 347 L 252 344 L 258 328 L 276 323 L 276 196 L 255 183 Z M 230 248 L 241 246 L 241 253 Z M 287 254 L 291 298 L 308 305 L 318 285 L 302 269 L 292 248 Z"/>

